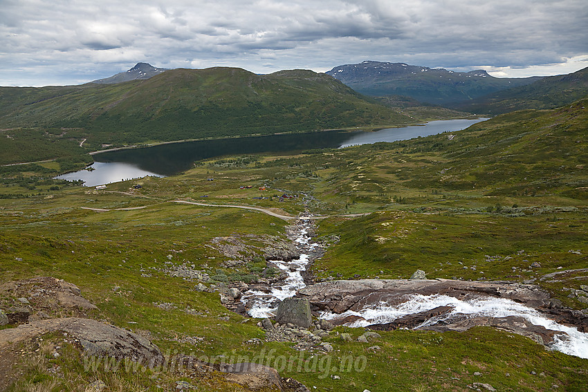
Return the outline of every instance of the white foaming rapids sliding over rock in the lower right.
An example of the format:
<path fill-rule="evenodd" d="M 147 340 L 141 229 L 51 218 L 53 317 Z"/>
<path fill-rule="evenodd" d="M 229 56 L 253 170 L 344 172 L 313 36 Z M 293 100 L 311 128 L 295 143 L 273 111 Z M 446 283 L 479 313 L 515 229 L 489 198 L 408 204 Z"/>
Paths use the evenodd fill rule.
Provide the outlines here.
<path fill-rule="evenodd" d="M 560 331 L 561 334 L 555 335 L 551 348 L 569 355 L 588 358 L 588 334 L 579 332 L 576 328 L 558 324 L 551 319 L 544 317 L 538 310 L 518 304 L 510 299 L 481 297 L 462 301 L 447 295 L 407 295 L 406 301 L 397 306 L 390 306 L 385 302 L 380 302 L 376 306 L 366 306 L 359 312 L 348 310 L 340 315 L 323 312 L 320 316 L 324 319 L 334 319 L 346 316 L 359 316 L 363 319 L 353 321 L 347 324 L 351 327 L 362 327 L 370 324 L 385 324 L 394 321 L 406 315 L 412 315 L 425 310 L 431 310 L 438 306 L 451 306 L 452 310 L 444 315 L 432 317 L 416 328 L 436 324 L 439 321 L 450 319 L 458 314 L 469 315 L 471 317 L 506 317 L 518 316 L 528 320 L 536 326 L 543 326 L 550 330 Z"/>

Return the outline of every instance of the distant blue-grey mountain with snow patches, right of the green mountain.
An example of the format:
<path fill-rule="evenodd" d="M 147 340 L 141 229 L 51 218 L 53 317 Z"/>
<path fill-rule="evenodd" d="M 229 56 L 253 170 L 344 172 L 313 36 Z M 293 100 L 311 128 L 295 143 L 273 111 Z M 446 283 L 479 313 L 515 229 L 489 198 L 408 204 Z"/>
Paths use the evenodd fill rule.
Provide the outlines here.
<path fill-rule="evenodd" d="M 499 78 L 490 76 L 483 70 L 454 72 L 443 68 L 370 61 L 336 66 L 327 71 L 327 75 L 365 95 L 404 95 L 420 102 L 441 106 L 474 100 L 541 79 Z"/>

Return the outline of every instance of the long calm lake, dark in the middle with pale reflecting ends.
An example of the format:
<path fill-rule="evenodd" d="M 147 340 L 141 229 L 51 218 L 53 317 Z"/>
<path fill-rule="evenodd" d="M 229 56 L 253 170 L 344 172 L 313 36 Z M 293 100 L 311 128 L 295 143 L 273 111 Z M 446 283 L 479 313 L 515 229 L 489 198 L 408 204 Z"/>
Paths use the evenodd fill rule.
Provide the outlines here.
<path fill-rule="evenodd" d="M 322 131 L 160 144 L 153 147 L 98 153 L 93 156 L 95 162 L 91 166 L 95 170 L 80 170 L 57 176 L 57 178 L 83 180 L 84 185 L 94 187 L 145 176 L 171 176 L 190 169 L 195 161 L 201 159 L 235 154 L 279 153 L 395 142 L 419 136 L 460 131 L 484 120 L 486 118 L 432 121 L 423 126 L 381 129 L 375 132 Z"/>

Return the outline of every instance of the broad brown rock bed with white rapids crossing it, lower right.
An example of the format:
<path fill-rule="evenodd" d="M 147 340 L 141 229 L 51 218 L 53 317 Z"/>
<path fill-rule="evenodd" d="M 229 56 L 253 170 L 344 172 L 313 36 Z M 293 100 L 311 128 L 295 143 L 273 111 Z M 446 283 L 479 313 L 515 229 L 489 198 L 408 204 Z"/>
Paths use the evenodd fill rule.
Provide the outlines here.
<path fill-rule="evenodd" d="M 588 358 L 588 314 L 538 286 L 508 281 L 364 279 L 307 286 L 297 296 L 335 325 L 463 331 L 494 326 L 548 348 Z"/>

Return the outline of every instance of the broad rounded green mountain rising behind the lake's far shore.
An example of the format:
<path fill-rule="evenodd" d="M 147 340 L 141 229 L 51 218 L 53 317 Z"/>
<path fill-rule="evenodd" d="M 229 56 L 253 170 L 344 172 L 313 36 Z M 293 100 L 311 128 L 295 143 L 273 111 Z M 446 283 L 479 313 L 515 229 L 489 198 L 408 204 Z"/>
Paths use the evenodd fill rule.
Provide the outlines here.
<path fill-rule="evenodd" d="M 176 69 L 120 84 L 0 88 L 1 128 L 81 128 L 89 145 L 407 122 L 312 71 Z"/>

